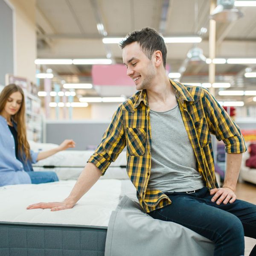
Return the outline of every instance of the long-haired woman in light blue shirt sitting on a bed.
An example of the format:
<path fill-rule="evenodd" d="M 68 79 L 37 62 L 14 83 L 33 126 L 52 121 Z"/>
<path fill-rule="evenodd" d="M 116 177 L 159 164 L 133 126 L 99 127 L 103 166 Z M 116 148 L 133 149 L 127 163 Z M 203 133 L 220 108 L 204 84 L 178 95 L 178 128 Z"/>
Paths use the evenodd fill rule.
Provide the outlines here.
<path fill-rule="evenodd" d="M 35 153 L 26 139 L 25 102 L 21 87 L 9 84 L 0 93 L 0 186 L 58 181 L 55 172 L 33 172 L 32 163 L 67 148 L 73 140 L 64 140 L 57 148 Z"/>

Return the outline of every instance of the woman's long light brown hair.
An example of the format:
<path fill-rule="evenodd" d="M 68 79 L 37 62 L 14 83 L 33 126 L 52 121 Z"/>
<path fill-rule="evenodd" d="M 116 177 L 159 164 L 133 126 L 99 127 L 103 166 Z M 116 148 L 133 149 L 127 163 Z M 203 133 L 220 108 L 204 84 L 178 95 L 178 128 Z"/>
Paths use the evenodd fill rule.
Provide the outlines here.
<path fill-rule="evenodd" d="M 12 120 L 17 124 L 17 134 L 18 134 L 18 152 L 20 157 L 23 160 L 31 160 L 30 156 L 30 147 L 26 138 L 26 123 L 25 123 L 25 98 L 23 90 L 20 86 L 16 84 L 9 84 L 3 88 L 0 93 L 0 113 L 3 111 L 7 99 L 11 96 L 12 93 L 20 92 L 22 95 L 22 101 L 20 104 L 19 111 L 12 116 Z M 25 158 L 24 158 L 25 155 Z"/>

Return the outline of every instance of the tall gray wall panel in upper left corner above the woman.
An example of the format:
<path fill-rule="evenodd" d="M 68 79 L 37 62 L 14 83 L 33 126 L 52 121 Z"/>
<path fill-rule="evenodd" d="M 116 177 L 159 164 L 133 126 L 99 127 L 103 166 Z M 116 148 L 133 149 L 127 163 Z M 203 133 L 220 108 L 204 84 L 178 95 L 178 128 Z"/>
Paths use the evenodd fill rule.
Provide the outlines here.
<path fill-rule="evenodd" d="M 6 73 L 14 73 L 13 13 L 4 0 L 0 0 L 0 84 L 5 85 Z"/>

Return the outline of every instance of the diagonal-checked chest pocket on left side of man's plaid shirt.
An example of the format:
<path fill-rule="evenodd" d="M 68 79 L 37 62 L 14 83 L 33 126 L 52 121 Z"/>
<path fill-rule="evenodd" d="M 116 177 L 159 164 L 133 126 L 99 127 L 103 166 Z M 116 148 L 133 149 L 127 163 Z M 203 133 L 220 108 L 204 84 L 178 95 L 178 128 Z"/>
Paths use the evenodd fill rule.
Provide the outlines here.
<path fill-rule="evenodd" d="M 145 154 L 146 132 L 143 128 L 127 127 L 127 151 L 131 156 Z"/>

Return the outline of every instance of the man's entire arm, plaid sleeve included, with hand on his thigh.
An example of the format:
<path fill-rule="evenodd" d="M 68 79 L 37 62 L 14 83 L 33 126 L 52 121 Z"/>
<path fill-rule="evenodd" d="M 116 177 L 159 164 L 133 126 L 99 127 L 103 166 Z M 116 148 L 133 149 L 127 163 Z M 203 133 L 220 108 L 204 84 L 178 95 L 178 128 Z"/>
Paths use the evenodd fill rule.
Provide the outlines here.
<path fill-rule="evenodd" d="M 233 119 L 227 114 L 216 99 L 209 93 L 204 91 L 204 109 L 207 114 L 207 124 L 212 134 L 215 134 L 217 140 L 223 140 L 227 153 L 226 177 L 223 188 L 211 189 L 210 194 L 214 195 L 212 201 L 217 204 L 227 204 L 236 201 L 236 183 L 241 167 L 242 153 L 246 151 L 244 138 L 239 127 Z M 225 199 L 226 198 L 226 199 Z"/>

